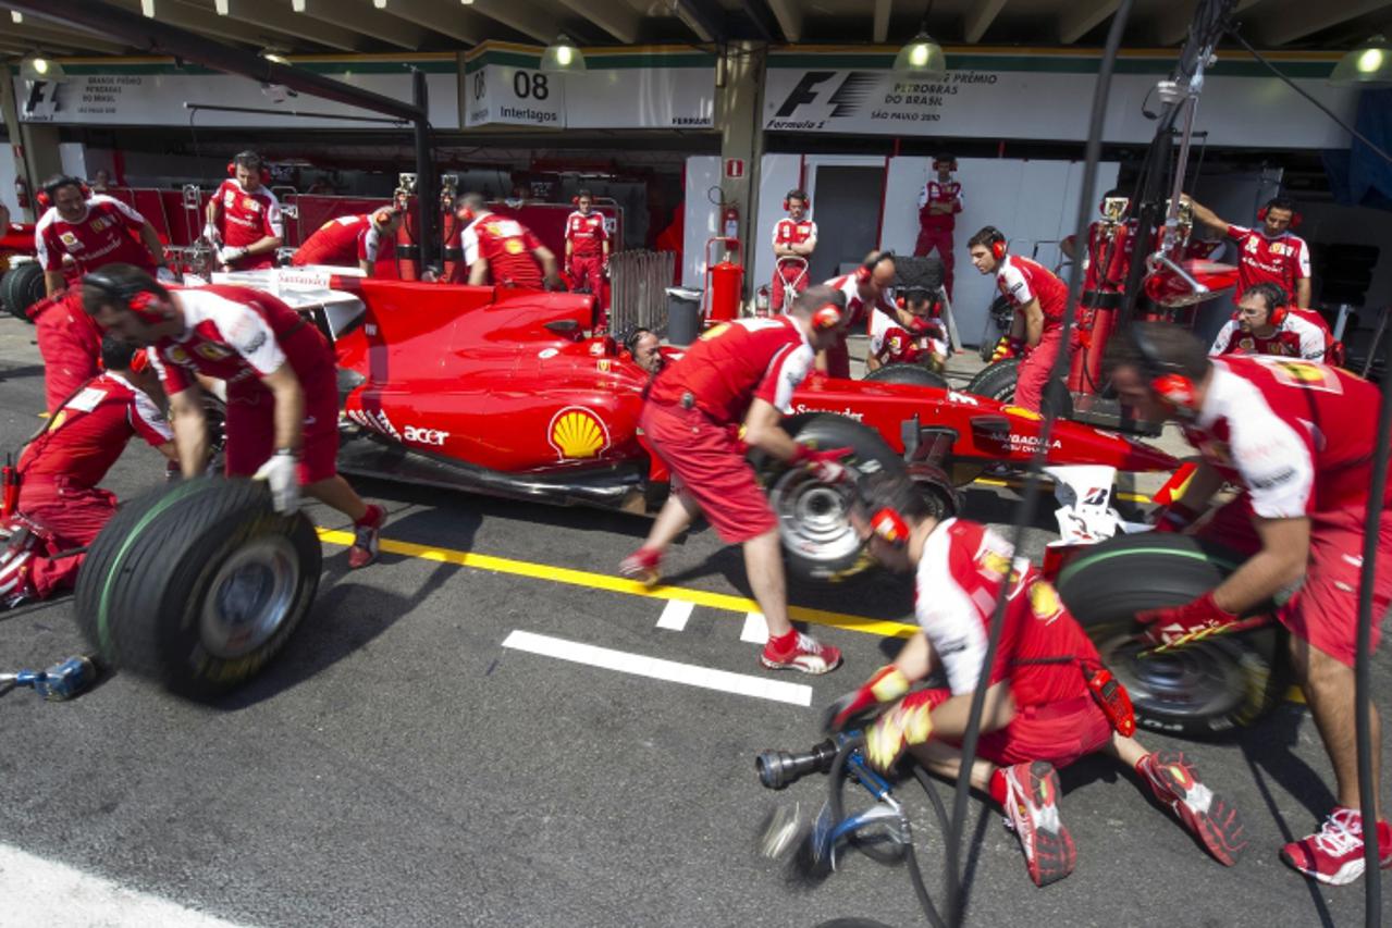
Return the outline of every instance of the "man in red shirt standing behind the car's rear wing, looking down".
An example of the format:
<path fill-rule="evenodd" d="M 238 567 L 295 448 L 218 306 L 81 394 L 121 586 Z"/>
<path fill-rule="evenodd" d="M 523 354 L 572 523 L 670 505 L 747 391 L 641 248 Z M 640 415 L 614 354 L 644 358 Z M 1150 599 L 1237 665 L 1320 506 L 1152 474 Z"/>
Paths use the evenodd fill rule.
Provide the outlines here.
<path fill-rule="evenodd" d="M 203 238 L 217 248 L 226 270 L 276 267 L 276 249 L 285 241 L 280 200 L 266 186 L 270 173 L 256 152 L 239 152 L 227 166 L 228 178 L 207 202 Z"/>

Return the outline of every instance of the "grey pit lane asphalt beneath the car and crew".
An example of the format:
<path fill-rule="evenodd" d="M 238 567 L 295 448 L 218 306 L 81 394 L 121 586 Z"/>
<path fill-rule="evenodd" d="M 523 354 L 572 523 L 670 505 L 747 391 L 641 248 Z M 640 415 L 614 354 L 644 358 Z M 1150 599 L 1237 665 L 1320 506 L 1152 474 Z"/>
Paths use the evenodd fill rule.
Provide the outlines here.
<path fill-rule="evenodd" d="M 32 331 L 0 320 L 4 448 L 39 424 Z M 107 486 L 125 497 L 160 472 L 153 452 L 132 445 Z M 388 538 L 596 573 L 612 570 L 647 526 L 379 481 L 361 488 L 388 505 Z M 1008 520 L 1013 498 L 973 491 L 969 515 Z M 1031 531 L 1030 552 L 1047 537 Z M 748 594 L 738 551 L 710 530 L 686 537 L 668 569 L 677 586 Z M 909 587 L 888 580 L 792 595 L 887 619 L 910 609 Z M 70 704 L 0 697 L 0 840 L 256 925 L 922 924 L 902 868 L 852 854 L 809 888 L 754 851 L 768 811 L 798 801 L 806 821 L 824 797 L 818 776 L 764 790 L 754 754 L 818 740 L 820 708 L 896 643 L 813 626 L 845 648 L 846 666 L 820 679 L 773 675 L 739 640 L 742 614 L 697 605 L 672 632 L 656 627 L 663 607 L 391 554 L 348 573 L 342 548 L 326 545 L 312 615 L 266 675 L 223 704 L 195 705 L 125 675 Z M 63 598 L 0 614 L 0 669 L 84 650 L 71 612 Z M 807 685 L 812 705 L 501 647 L 515 630 Z M 1382 650 L 1378 691 L 1389 682 Z M 999 817 L 973 801 L 970 924 L 1361 924 L 1359 885 L 1315 888 L 1276 857 L 1332 801 L 1328 761 L 1299 707 L 1224 743 L 1144 740 L 1186 750 L 1240 806 L 1246 858 L 1232 870 L 1212 863 L 1130 775 L 1089 761 L 1063 774 L 1077 870 L 1048 889 L 1029 882 Z M 899 796 L 941 902 L 940 831 L 915 783 Z M 1392 892 L 1385 877 L 1384 888 Z M 53 911 L 63 904 L 53 899 Z"/>

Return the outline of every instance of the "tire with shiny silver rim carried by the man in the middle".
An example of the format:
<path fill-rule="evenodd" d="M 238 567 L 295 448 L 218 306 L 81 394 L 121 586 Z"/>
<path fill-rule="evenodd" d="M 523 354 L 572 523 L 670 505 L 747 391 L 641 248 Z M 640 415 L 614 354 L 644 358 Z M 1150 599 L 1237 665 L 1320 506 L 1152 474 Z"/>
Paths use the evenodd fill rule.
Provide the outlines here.
<path fill-rule="evenodd" d="M 880 434 L 844 416 L 812 413 L 789 416 L 782 429 L 816 448 L 851 448 L 842 461 L 852 476 L 906 473 L 903 459 Z M 785 467 L 764 459 L 754 466 L 764 476 L 768 502 L 778 516 L 788 572 L 803 580 L 837 583 L 870 568 L 874 561 L 851 525 L 855 488 L 814 480 L 806 467 Z"/>

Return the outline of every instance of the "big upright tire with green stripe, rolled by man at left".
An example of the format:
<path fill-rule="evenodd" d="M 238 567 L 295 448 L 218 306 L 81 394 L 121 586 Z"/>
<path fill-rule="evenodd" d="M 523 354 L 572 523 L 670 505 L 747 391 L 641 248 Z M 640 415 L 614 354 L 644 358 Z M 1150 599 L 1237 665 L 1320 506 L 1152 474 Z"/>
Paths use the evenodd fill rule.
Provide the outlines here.
<path fill-rule="evenodd" d="M 198 479 L 116 513 L 78 572 L 77 614 L 102 659 L 214 700 L 285 646 L 319 589 L 323 554 L 264 483 Z"/>

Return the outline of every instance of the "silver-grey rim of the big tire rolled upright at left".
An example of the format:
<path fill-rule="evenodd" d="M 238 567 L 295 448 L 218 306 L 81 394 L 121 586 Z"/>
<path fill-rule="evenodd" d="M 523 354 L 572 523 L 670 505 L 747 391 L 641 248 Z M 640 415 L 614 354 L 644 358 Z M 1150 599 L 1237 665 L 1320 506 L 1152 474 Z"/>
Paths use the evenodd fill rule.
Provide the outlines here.
<path fill-rule="evenodd" d="M 251 654 L 290 618 L 298 589 L 299 555 L 290 538 L 248 541 L 217 569 L 203 598 L 203 646 L 223 659 Z"/>

